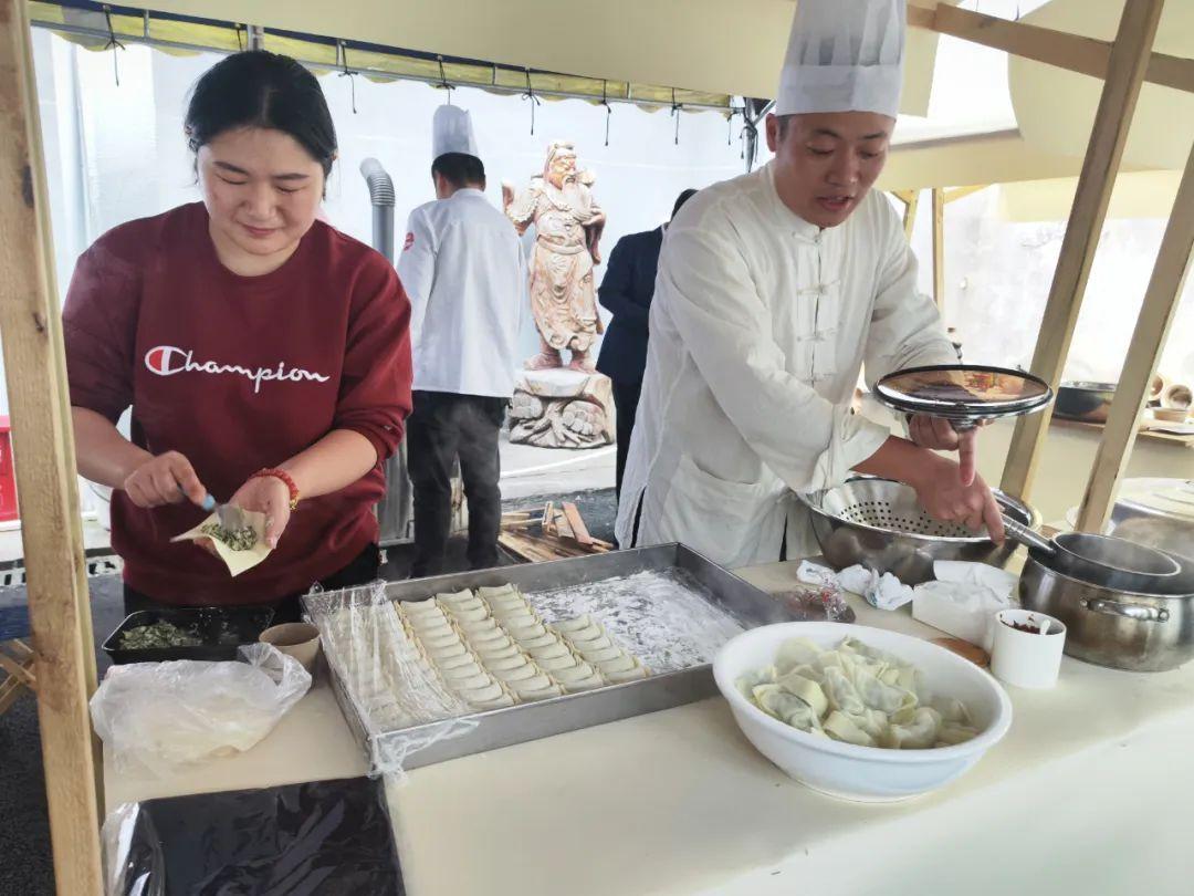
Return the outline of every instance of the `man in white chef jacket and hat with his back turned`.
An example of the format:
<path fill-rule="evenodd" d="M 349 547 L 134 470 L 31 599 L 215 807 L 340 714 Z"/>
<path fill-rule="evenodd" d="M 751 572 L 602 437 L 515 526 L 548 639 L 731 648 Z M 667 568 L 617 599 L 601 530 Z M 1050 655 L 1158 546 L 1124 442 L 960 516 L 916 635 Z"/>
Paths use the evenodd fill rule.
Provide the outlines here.
<path fill-rule="evenodd" d="M 468 501 L 468 561 L 496 566 L 501 524 L 498 432 L 513 394 L 527 265 L 518 234 L 485 198 L 469 113 L 436 110 L 436 201 L 411 213 L 398 274 L 411 299 L 414 410 L 406 422 L 414 486 L 413 576 L 444 570 L 451 474 Z"/>

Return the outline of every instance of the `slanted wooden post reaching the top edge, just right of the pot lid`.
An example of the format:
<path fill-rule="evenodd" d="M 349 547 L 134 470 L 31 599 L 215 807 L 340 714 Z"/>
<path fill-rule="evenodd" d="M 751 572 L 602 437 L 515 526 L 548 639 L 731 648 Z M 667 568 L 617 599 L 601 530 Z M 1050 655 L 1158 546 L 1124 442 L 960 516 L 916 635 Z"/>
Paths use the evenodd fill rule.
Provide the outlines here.
<path fill-rule="evenodd" d="M 1061 380 L 1070 351 L 1090 265 L 1098 248 L 1098 233 L 1107 217 L 1107 204 L 1115 185 L 1115 173 L 1127 142 L 1163 5 L 1164 0 L 1133 0 L 1124 6 L 1107 81 L 1098 100 L 1087 158 L 1078 177 L 1078 191 L 1070 210 L 1070 222 L 1061 241 L 1061 254 L 1033 355 L 1033 373 L 1042 376 L 1054 388 Z M 1029 496 L 1051 416 L 1051 411 L 1046 410 L 1021 417 L 1016 424 L 1003 471 L 1002 489 L 1005 493 L 1021 498 Z"/>

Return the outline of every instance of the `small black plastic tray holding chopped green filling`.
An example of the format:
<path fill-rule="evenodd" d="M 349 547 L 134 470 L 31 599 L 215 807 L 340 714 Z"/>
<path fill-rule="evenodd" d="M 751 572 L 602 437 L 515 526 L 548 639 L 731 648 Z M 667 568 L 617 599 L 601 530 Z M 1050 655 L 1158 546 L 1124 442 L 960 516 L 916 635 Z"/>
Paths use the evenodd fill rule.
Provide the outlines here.
<path fill-rule="evenodd" d="M 252 644 L 270 627 L 270 607 L 180 607 L 178 609 L 140 609 L 124 618 L 104 642 L 113 663 L 162 663 L 168 659 L 235 659 L 236 648 Z M 150 648 L 125 650 L 121 634 L 129 628 L 154 622 L 171 622 L 195 631 L 203 644 L 195 648 Z M 221 637 L 223 633 L 223 637 Z"/>

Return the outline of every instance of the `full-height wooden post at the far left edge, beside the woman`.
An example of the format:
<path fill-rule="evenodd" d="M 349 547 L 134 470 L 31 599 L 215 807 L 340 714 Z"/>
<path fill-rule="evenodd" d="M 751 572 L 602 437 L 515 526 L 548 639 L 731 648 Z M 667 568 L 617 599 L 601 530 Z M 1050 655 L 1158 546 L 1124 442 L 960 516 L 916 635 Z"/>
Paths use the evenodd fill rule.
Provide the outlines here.
<path fill-rule="evenodd" d="M 12 407 L 37 712 L 62 896 L 103 891 L 91 613 L 50 211 L 24 0 L 0 0 L 0 337 Z"/>

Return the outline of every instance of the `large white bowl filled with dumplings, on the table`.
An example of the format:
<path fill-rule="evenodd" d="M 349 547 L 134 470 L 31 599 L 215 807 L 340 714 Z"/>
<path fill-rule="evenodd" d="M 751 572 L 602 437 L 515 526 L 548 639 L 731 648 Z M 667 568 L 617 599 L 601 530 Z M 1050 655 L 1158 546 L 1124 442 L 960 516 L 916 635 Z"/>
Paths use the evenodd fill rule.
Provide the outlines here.
<path fill-rule="evenodd" d="M 759 753 L 842 799 L 888 803 L 943 787 L 1011 725 L 1011 701 L 986 671 L 869 626 L 753 628 L 721 649 L 713 675 Z"/>

